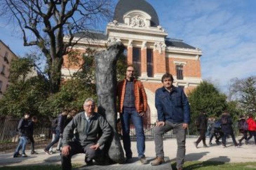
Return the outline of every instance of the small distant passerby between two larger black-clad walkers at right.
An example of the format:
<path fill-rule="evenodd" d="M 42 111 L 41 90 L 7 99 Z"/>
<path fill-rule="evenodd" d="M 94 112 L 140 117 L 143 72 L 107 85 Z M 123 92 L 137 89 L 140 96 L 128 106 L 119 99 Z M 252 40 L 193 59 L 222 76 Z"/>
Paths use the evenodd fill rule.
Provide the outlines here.
<path fill-rule="evenodd" d="M 221 143 L 220 138 L 223 137 L 223 132 L 221 130 L 221 119 L 215 120 L 212 125 L 209 144 L 212 144 L 213 136 L 215 137 L 216 144 L 219 145 Z"/>

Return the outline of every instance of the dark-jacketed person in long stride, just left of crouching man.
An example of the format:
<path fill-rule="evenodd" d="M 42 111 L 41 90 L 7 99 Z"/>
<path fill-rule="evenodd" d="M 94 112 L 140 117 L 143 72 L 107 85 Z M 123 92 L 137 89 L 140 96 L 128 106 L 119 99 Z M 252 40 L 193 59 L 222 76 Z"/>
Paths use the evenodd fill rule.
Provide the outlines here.
<path fill-rule="evenodd" d="M 63 109 L 62 113 L 60 113 L 58 115 L 57 118 L 57 127 L 55 128 L 55 139 L 54 141 L 52 141 L 51 143 L 49 143 L 46 148 L 43 150 L 46 154 L 50 154 L 49 149 L 56 144 L 59 141 L 60 136 L 62 136 L 62 132 L 64 130 L 64 124 L 65 124 L 65 120 L 66 120 L 66 116 L 68 115 L 68 110 L 67 109 Z"/>

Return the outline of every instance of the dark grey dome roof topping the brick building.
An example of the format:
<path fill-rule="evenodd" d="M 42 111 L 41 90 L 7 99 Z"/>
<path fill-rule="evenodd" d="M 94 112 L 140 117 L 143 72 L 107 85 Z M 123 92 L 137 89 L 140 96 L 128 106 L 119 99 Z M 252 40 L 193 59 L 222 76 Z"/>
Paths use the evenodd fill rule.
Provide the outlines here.
<path fill-rule="evenodd" d="M 151 16 L 151 26 L 159 26 L 158 14 L 145 0 L 119 0 L 115 7 L 114 20 L 117 20 L 120 23 L 124 23 L 125 13 L 131 10 L 141 10 Z"/>

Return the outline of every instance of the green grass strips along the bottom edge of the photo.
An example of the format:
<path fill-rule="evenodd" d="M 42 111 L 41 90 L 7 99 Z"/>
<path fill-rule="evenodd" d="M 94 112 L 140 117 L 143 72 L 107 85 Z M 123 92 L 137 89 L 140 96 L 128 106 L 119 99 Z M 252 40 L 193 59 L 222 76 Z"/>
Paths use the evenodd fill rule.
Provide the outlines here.
<path fill-rule="evenodd" d="M 74 165 L 74 167 L 79 167 L 79 165 Z M 172 169 L 176 170 L 176 163 L 172 164 Z M 0 170 L 60 170 L 60 165 L 0 167 Z M 184 170 L 256 170 L 256 162 L 223 163 L 211 161 L 186 161 Z"/>

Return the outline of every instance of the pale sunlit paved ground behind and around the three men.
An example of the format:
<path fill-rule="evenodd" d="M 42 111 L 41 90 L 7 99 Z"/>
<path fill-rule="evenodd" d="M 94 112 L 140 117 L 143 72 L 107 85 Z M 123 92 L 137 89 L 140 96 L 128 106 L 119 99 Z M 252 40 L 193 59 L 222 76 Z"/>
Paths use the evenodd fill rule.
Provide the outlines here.
<path fill-rule="evenodd" d="M 242 147 L 239 147 L 239 148 L 233 145 L 233 143 L 231 142 L 231 139 L 228 139 L 227 148 L 222 148 L 221 146 L 218 146 L 216 144 L 212 144 L 208 148 L 203 148 L 203 145 L 199 144 L 198 146 L 199 148 L 195 148 L 193 144 L 195 140 L 196 140 L 195 138 L 187 138 L 186 160 L 200 160 L 200 161 L 211 160 L 211 161 L 221 161 L 221 162 L 255 161 L 256 145 L 253 144 L 253 141 L 251 141 L 251 144 L 248 144 L 248 145 L 243 144 Z M 132 146 L 133 156 L 137 157 L 136 142 L 132 141 L 131 146 Z M 60 164 L 59 153 L 46 155 L 43 152 L 43 149 L 40 149 L 37 151 L 39 152 L 39 154 L 37 155 L 29 155 L 30 151 L 29 150 L 26 151 L 26 153 L 28 154 L 28 157 L 26 158 L 23 158 L 23 157 L 13 158 L 13 153 L 0 153 L 0 166 Z M 164 152 L 165 152 L 166 160 L 170 159 L 168 160 L 168 162 L 175 160 L 176 151 L 177 151 L 176 139 L 166 139 L 164 141 Z M 152 160 L 153 157 L 155 156 L 154 141 L 146 141 L 145 155 L 146 157 L 148 157 L 147 159 L 149 161 Z M 84 154 L 78 154 L 72 157 L 72 163 L 85 164 Z M 136 158 L 134 158 L 134 164 L 139 165 L 139 162 L 136 160 Z M 169 166 L 170 164 L 167 164 L 167 165 Z M 149 164 L 145 165 L 145 168 L 147 170 L 154 170 L 154 167 L 151 167 Z M 100 168 L 98 167 L 96 169 L 100 169 Z M 103 169 L 108 169 L 108 167 L 104 167 Z M 115 166 L 114 167 L 112 166 L 112 169 L 115 169 Z M 141 166 L 140 166 L 140 169 L 141 169 Z M 163 169 L 165 168 L 163 167 Z M 86 167 L 83 167 L 81 170 L 86 170 Z"/>

